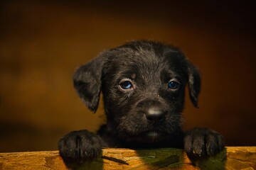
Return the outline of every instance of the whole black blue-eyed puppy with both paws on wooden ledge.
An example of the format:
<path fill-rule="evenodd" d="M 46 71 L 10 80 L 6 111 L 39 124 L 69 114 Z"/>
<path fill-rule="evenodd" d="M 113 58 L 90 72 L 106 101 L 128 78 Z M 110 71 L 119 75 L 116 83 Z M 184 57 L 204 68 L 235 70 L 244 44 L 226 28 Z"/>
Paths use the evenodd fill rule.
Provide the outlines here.
<path fill-rule="evenodd" d="M 207 128 L 181 130 L 185 86 L 198 107 L 201 78 L 176 47 L 138 40 L 102 52 L 73 76 L 75 89 L 96 112 L 103 94 L 107 124 L 97 135 L 70 132 L 58 148 L 65 160 L 82 162 L 102 147 L 178 147 L 195 157 L 218 154 L 223 137 Z"/>

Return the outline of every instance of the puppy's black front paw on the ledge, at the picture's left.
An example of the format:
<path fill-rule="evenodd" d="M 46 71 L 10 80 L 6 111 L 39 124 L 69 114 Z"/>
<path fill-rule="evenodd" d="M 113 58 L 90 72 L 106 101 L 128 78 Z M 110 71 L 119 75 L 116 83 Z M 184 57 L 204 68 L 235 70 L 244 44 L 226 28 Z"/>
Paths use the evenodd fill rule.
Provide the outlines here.
<path fill-rule="evenodd" d="M 101 152 L 100 137 L 87 130 L 73 131 L 58 142 L 60 156 L 65 161 L 84 162 Z"/>

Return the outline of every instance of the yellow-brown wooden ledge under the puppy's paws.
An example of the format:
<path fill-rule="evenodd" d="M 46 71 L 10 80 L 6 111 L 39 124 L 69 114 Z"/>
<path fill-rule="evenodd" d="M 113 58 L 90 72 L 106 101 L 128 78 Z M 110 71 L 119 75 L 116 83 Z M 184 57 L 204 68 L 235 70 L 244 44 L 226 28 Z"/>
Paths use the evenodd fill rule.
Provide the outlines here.
<path fill-rule="evenodd" d="M 0 153 L 0 169 L 256 169 L 256 147 L 226 147 L 191 161 L 181 149 L 102 149 L 93 162 L 65 165 L 58 151 Z"/>

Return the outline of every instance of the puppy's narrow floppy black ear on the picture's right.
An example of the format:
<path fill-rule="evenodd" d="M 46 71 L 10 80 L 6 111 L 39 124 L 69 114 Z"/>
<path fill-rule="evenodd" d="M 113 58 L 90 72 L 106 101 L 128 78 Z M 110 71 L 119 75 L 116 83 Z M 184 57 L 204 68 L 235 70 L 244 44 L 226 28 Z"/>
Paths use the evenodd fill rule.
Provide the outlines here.
<path fill-rule="evenodd" d="M 201 76 L 198 69 L 191 62 L 188 63 L 188 89 L 193 106 L 198 108 L 198 95 L 201 90 Z"/>

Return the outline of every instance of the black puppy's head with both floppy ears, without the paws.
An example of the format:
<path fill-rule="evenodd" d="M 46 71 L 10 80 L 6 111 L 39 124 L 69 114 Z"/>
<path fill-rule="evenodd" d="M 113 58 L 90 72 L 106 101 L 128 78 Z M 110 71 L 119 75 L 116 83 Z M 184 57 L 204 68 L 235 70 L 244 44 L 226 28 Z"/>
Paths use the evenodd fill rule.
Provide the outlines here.
<path fill-rule="evenodd" d="M 93 112 L 102 91 L 107 124 L 135 142 L 159 142 L 179 131 L 185 86 L 196 107 L 201 87 L 196 67 L 176 47 L 145 40 L 102 52 L 73 81 Z"/>

